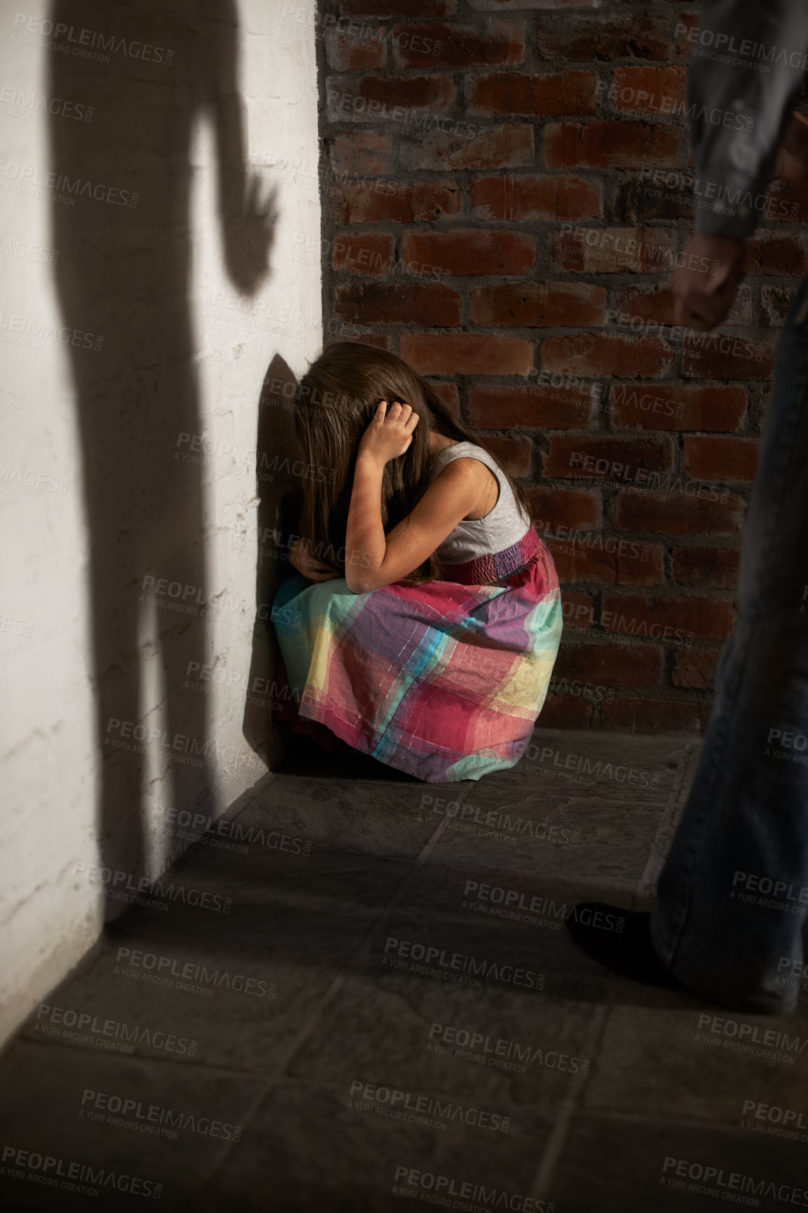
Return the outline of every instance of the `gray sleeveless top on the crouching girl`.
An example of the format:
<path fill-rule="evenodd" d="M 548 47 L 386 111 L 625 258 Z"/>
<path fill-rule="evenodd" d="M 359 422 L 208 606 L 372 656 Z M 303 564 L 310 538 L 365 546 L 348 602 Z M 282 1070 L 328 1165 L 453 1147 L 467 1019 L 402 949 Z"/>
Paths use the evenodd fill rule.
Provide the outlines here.
<path fill-rule="evenodd" d="M 455 459 L 476 459 L 484 463 L 496 477 L 500 495 L 494 508 L 489 509 L 484 518 L 462 519 L 446 536 L 437 551 L 438 559 L 444 564 L 463 564 L 480 556 L 502 552 L 524 539 L 533 525 L 522 513 L 519 502 L 513 496 L 513 489 L 496 460 L 476 443 L 455 443 L 454 446 L 439 451 L 432 465 L 432 479 L 434 480 L 446 463 Z"/>

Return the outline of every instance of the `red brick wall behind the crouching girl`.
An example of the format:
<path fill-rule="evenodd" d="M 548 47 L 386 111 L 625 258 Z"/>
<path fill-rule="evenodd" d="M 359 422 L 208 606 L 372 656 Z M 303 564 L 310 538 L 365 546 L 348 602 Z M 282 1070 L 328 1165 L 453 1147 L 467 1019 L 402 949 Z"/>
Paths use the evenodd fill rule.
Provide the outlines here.
<path fill-rule="evenodd" d="M 567 619 L 541 723 L 698 730 L 808 207 L 773 188 L 728 324 L 675 329 L 694 11 L 558 4 L 323 8 L 328 334 L 400 353 L 533 486 Z"/>

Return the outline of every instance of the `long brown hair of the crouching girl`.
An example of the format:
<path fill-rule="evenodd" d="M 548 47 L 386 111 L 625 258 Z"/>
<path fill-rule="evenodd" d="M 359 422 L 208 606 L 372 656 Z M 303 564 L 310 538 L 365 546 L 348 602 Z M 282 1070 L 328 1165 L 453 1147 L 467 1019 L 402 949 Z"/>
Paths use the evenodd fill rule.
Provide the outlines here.
<path fill-rule="evenodd" d="M 380 400 L 410 404 L 419 415 L 410 446 L 385 466 L 381 516 L 386 533 L 406 518 L 429 486 L 436 457 L 429 445 L 433 431 L 456 442 L 476 443 L 500 466 L 485 439 L 454 417 L 434 388 L 403 358 L 355 341 L 326 346 L 300 382 L 295 428 L 311 473 L 303 485 L 301 531 L 317 558 L 338 573 L 345 573 L 357 449 Z M 524 490 L 501 471 L 529 518 Z M 433 553 L 405 580 L 431 581 L 440 573 Z"/>

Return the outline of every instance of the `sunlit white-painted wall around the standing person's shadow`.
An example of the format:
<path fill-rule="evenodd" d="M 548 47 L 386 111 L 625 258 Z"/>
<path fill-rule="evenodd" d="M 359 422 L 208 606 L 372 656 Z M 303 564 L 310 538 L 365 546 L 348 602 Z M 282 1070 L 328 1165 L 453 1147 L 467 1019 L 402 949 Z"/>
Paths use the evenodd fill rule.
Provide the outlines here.
<path fill-rule="evenodd" d="M 107 29 L 115 10 L 95 7 L 96 24 Z M 239 91 L 249 158 L 263 175 L 264 188 L 275 186 L 278 215 L 271 275 L 250 301 L 239 302 L 223 268 L 216 146 L 204 115 L 195 125 L 190 155 L 194 372 L 206 446 L 215 451 L 199 465 L 207 590 L 209 600 L 224 609 L 199 651 L 200 666 L 207 664 L 221 679 L 209 679 L 205 695 L 215 745 L 212 786 L 204 799 L 204 790 L 189 785 L 187 803 L 176 808 L 203 797 L 212 815 L 224 811 L 266 771 L 243 735 L 243 691 L 255 661 L 258 500 L 252 451 L 261 383 L 277 355 L 300 375 L 322 340 L 319 256 L 308 258 L 307 266 L 300 260 L 301 247 L 319 249 L 320 232 L 314 4 L 296 0 L 291 16 L 285 10 L 289 6 L 266 0 L 239 5 Z M 32 0 L 25 15 L 36 23 L 49 10 L 41 0 Z M 0 85 L 15 90 L 13 96 L 16 90 L 46 95 L 47 56 L 56 52 L 30 45 L 35 38 L 21 40 L 13 21 L 13 7 L 0 17 Z M 44 337 L 39 348 L 13 343 L 15 326 L 25 324 L 15 317 L 32 318 L 35 328 L 63 324 L 55 266 L 47 261 L 53 246 L 51 205 L 15 193 L 19 171 L 10 167 L 49 171 L 46 124 L 41 109 L 32 109 L 28 119 L 0 112 L 0 1038 L 69 972 L 96 940 L 104 916 L 115 911 L 103 881 L 84 888 L 76 881 L 76 872 L 97 865 L 101 855 L 99 738 L 91 677 L 90 536 L 69 352 L 58 336 Z M 68 138 L 68 119 L 64 125 Z M 103 233 L 99 239 L 103 243 Z M 110 399 L 114 392 L 110 382 Z M 148 393 L 147 378 L 143 392 Z M 222 451 L 223 444 L 235 450 L 235 461 Z M 181 497 L 180 480 L 172 492 Z M 125 525 L 123 519 L 121 529 Z M 169 517 L 158 528 L 169 571 L 188 543 L 188 535 L 172 526 Z M 114 564 L 110 559 L 110 583 Z M 140 597 L 140 587 L 131 583 L 116 592 Z M 144 604 L 137 626 L 137 723 L 159 727 L 165 706 L 155 633 L 160 625 Z M 121 655 L 121 662 L 127 660 Z M 140 808 L 120 805 L 121 830 L 127 814 L 141 814 L 141 853 L 127 852 L 126 842 L 119 848 L 123 867 L 135 878 L 159 876 L 186 845 L 165 830 L 171 802 L 166 769 L 164 753 L 149 758 Z"/>

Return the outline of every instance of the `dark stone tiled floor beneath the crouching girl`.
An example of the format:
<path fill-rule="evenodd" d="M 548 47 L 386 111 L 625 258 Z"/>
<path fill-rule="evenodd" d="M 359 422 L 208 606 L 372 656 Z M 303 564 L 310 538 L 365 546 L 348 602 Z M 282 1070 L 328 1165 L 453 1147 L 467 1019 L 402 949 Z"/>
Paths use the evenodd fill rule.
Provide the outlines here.
<path fill-rule="evenodd" d="M 479 784 L 311 752 L 257 784 L 0 1057 L 0 1207 L 684 1213 L 741 1203 L 733 1172 L 775 1185 L 746 1206 L 806 1207 L 804 1144 L 744 1111 L 808 1122 L 801 1053 L 722 1047 L 699 1016 L 732 1013 L 611 979 L 561 929 L 582 898 L 649 904 L 698 742 L 536 746 Z M 736 1018 L 808 1037 L 803 1010 Z"/>

